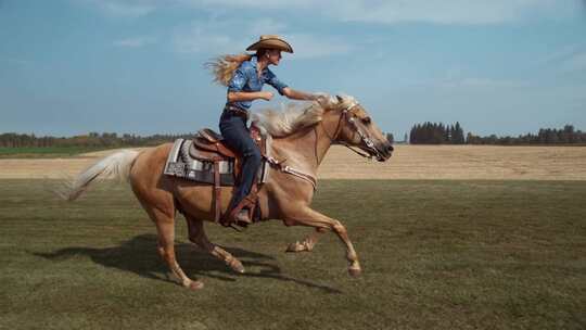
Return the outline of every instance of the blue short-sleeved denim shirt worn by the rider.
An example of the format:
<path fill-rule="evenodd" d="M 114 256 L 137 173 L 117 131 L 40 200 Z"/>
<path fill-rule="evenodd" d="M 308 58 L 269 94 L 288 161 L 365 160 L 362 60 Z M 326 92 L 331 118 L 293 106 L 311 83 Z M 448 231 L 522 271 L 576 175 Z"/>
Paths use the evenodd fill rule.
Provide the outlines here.
<path fill-rule="evenodd" d="M 268 84 L 275 87 L 275 89 L 277 89 L 277 91 L 282 96 L 283 89 L 288 86 L 280 81 L 268 67 L 265 67 L 260 74 L 260 77 L 258 77 L 256 72 L 257 63 L 256 56 L 253 56 L 250 61 L 242 62 L 242 64 L 240 64 L 240 66 L 235 69 L 232 79 L 230 79 L 230 82 L 228 84 L 228 91 L 260 91 L 263 89 L 263 85 Z M 252 105 L 252 101 L 229 102 L 229 104 L 249 110 Z"/>

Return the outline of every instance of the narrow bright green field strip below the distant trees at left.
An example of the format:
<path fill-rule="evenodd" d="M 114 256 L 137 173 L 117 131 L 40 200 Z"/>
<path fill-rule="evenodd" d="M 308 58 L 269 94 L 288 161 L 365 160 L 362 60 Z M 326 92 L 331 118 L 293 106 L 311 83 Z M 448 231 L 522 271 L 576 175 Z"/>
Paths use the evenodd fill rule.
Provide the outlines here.
<path fill-rule="evenodd" d="M 0 158 L 52 158 L 67 157 L 80 153 L 106 150 L 103 147 L 0 147 Z"/>

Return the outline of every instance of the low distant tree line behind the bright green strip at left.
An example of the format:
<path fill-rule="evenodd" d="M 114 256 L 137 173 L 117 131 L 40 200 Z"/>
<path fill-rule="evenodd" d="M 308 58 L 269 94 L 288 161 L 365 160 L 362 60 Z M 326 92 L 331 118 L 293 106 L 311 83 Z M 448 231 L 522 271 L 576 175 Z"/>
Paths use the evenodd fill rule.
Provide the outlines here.
<path fill-rule="evenodd" d="M 74 137 L 37 137 L 34 134 L 0 134 L 0 147 L 91 147 L 91 148 L 122 148 L 122 147 L 148 147 L 164 142 L 175 141 L 178 138 L 190 139 L 193 135 L 152 135 L 137 136 L 115 132 L 90 132 Z"/>

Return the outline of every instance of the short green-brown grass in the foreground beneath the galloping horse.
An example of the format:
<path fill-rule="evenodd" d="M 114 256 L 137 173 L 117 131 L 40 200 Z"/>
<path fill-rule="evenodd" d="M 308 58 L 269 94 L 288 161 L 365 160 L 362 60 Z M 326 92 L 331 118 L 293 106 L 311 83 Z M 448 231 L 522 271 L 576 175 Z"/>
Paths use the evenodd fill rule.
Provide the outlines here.
<path fill-rule="evenodd" d="M 346 224 L 357 279 L 333 234 L 286 254 L 307 228 L 209 224 L 235 275 L 178 218 L 201 291 L 167 278 L 128 187 L 65 203 L 53 183 L 0 181 L 0 329 L 586 329 L 586 182 L 320 181 L 315 207 Z"/>

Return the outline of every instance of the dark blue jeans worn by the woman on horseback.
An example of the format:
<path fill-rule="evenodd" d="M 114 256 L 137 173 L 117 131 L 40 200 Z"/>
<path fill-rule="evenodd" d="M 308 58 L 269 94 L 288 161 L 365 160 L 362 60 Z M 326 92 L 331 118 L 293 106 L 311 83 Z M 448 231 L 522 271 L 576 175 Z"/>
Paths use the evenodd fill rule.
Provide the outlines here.
<path fill-rule="evenodd" d="M 251 138 L 251 134 L 246 127 L 246 118 L 224 111 L 220 117 L 219 128 L 226 144 L 239 153 L 243 161 L 240 182 L 234 188 L 232 200 L 228 207 L 228 210 L 232 210 L 251 192 L 263 157 L 260 150 Z"/>

